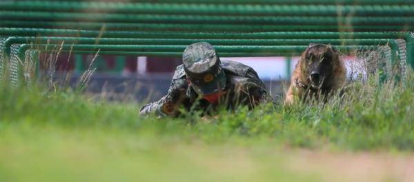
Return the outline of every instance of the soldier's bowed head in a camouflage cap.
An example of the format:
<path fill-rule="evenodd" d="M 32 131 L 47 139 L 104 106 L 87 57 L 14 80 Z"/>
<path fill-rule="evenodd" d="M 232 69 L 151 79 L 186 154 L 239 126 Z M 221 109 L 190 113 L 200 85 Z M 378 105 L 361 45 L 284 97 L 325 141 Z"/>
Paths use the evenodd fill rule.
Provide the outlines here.
<path fill-rule="evenodd" d="M 184 71 L 191 87 L 210 102 L 217 102 L 226 87 L 226 76 L 220 59 L 209 43 L 194 43 L 184 50 Z"/>

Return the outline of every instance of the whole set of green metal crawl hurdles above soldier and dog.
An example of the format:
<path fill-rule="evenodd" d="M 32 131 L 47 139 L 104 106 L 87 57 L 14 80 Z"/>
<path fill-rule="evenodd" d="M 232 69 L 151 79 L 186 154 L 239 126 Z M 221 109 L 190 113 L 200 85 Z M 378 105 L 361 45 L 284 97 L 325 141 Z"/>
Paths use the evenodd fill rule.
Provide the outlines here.
<path fill-rule="evenodd" d="M 6 36 L 0 68 L 17 65 L 8 61 L 13 55 L 33 57 L 46 42 L 65 41 L 77 54 L 95 47 L 101 54 L 179 56 L 181 46 L 208 41 L 233 56 L 288 55 L 308 43 L 384 45 L 388 70 L 398 62 L 414 66 L 413 15 L 412 0 L 6 0 L 0 1 L 0 36 Z"/>

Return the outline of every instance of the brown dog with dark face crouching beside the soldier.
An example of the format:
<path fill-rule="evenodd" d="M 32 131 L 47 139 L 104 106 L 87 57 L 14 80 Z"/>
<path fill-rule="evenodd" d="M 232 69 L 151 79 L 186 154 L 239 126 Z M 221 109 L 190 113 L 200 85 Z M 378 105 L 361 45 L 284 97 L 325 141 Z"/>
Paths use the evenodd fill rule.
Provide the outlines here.
<path fill-rule="evenodd" d="M 339 52 L 331 45 L 310 44 L 295 66 L 285 104 L 293 104 L 296 98 L 319 100 L 321 95 L 327 101 L 327 96 L 345 82 L 346 67 Z"/>

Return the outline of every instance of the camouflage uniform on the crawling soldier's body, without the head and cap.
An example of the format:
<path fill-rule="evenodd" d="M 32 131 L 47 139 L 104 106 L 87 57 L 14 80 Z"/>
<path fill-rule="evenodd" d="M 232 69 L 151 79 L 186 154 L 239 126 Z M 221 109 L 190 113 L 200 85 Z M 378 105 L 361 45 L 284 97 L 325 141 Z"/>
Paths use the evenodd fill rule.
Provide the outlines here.
<path fill-rule="evenodd" d="M 204 114 L 208 114 L 218 105 L 226 106 L 226 109 L 236 109 L 237 106 L 248 106 L 252 109 L 259 103 L 272 100 L 264 83 L 251 67 L 230 60 L 221 60 L 220 66 L 226 76 L 226 93 L 221 95 L 218 104 L 211 104 L 199 97 L 188 84 L 183 65 L 179 65 L 172 77 L 167 95 L 157 102 L 143 106 L 140 115 L 155 113 L 177 116 L 179 111 L 182 111 L 179 107 L 185 111 L 203 111 Z"/>

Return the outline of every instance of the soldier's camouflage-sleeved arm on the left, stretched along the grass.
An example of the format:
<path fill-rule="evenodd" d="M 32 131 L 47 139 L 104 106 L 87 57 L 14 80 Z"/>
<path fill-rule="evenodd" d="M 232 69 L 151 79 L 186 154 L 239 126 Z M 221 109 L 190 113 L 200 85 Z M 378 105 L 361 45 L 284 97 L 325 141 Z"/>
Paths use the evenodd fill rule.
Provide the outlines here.
<path fill-rule="evenodd" d="M 177 109 L 184 102 L 186 97 L 186 89 L 188 83 L 185 78 L 172 80 L 167 95 L 157 102 L 144 105 L 139 111 L 139 115 L 154 113 L 155 115 L 177 115 Z"/>

